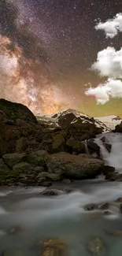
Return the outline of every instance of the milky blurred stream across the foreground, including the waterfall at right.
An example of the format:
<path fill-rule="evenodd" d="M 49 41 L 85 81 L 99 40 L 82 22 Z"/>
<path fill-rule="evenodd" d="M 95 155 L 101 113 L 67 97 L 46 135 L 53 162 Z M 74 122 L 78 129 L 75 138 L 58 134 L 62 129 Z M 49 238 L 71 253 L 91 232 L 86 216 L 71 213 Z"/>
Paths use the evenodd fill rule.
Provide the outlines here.
<path fill-rule="evenodd" d="M 105 164 L 113 165 L 121 172 L 122 135 L 109 133 L 105 136 L 108 143 L 112 143 L 110 154 L 102 144 L 101 135 L 95 139 L 101 147 Z M 54 184 L 51 188 L 61 190 L 63 187 L 63 184 Z M 98 236 L 105 245 L 104 255 L 121 256 L 122 233 L 121 236 L 116 235 L 122 231 L 122 213 L 116 199 L 122 198 L 122 183 L 100 178 L 76 181 L 68 187 L 76 190 L 52 197 L 39 194 L 44 187 L 1 187 L 0 255 L 38 256 L 43 254 L 39 241 L 59 238 L 68 245 L 67 256 L 100 256 L 103 254 L 88 250 L 91 239 Z M 109 202 L 110 214 L 100 210 L 105 202 Z M 91 204 L 98 208 L 84 209 Z M 11 232 L 18 226 L 18 232 Z"/>

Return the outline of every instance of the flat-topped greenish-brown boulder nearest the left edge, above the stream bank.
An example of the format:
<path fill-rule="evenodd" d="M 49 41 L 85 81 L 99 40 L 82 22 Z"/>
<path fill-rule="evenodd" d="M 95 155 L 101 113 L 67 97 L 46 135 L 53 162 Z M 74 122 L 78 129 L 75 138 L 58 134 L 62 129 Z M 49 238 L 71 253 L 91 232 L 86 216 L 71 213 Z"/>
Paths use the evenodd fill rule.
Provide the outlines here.
<path fill-rule="evenodd" d="M 26 161 L 27 155 L 24 153 L 4 154 L 2 158 L 6 165 L 8 165 L 10 168 L 13 168 L 13 165 L 17 165 L 21 161 Z"/>

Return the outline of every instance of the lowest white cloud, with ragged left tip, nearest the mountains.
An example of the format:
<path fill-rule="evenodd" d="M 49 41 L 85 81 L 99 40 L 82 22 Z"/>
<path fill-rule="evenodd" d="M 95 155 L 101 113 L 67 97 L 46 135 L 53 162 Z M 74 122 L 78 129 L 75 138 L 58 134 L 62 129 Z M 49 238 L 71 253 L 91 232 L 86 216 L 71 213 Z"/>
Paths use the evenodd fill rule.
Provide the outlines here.
<path fill-rule="evenodd" d="M 90 87 L 85 94 L 94 96 L 98 104 L 105 104 L 111 97 L 122 98 L 122 81 L 109 78 L 107 82 L 100 83 L 98 87 Z"/>

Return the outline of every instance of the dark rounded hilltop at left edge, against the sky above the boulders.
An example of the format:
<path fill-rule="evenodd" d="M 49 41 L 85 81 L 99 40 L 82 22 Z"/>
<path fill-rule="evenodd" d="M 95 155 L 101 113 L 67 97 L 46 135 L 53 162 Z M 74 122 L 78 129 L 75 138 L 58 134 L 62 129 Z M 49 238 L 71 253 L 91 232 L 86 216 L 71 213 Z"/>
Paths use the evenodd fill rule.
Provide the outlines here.
<path fill-rule="evenodd" d="M 0 110 L 2 110 L 9 120 L 16 121 L 22 119 L 26 122 L 36 123 L 36 118 L 27 106 L 20 103 L 9 102 L 6 99 L 0 99 Z"/>

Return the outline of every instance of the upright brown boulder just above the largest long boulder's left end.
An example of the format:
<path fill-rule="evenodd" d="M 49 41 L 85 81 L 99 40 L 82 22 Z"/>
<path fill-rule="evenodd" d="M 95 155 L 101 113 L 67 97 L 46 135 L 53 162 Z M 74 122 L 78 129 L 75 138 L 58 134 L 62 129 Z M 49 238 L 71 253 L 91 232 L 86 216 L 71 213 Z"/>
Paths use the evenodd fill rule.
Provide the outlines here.
<path fill-rule="evenodd" d="M 54 135 L 53 137 L 53 143 L 52 143 L 52 152 L 57 153 L 65 150 L 65 139 L 61 135 L 61 133 L 58 133 L 57 135 Z"/>

